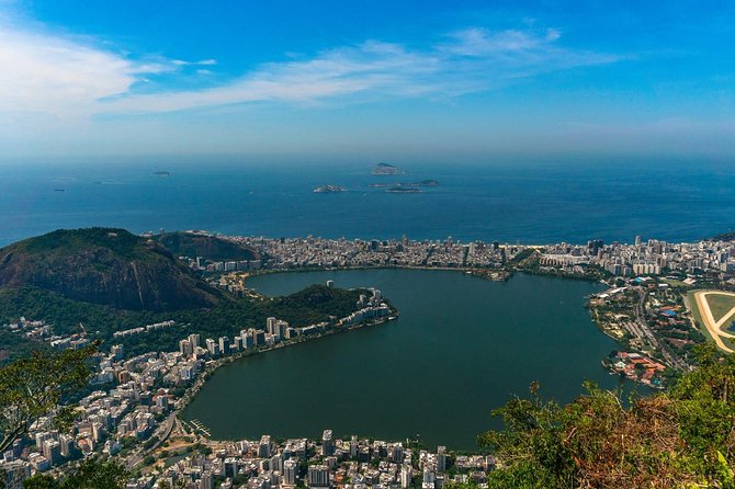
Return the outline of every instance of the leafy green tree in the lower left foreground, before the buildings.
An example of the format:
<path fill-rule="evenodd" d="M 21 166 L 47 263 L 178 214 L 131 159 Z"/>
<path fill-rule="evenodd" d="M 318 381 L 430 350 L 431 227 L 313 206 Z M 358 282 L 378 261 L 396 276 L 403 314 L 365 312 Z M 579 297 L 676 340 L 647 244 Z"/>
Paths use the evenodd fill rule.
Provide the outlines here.
<path fill-rule="evenodd" d="M 99 343 L 81 350 L 35 351 L 29 357 L 0 367 L 0 453 L 27 433 L 38 418 L 54 414 L 55 427 L 66 430 L 75 406 L 59 403 L 84 387 L 91 375 L 89 357 Z"/>

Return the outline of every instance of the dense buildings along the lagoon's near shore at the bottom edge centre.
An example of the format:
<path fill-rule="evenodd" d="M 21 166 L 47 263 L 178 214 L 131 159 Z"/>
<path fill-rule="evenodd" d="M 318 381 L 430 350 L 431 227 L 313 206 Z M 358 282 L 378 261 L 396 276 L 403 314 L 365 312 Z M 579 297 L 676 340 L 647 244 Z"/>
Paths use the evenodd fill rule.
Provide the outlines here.
<path fill-rule="evenodd" d="M 493 457 L 455 457 L 443 446 L 429 452 L 357 435 L 335 440 L 331 430 L 325 430 L 320 441 L 279 443 L 263 435 L 214 448 L 208 455 L 190 455 L 161 468 L 157 480 L 192 489 L 441 489 L 450 481 L 483 484 L 495 466 Z M 142 477 L 128 488 L 148 488 L 152 479 Z"/>

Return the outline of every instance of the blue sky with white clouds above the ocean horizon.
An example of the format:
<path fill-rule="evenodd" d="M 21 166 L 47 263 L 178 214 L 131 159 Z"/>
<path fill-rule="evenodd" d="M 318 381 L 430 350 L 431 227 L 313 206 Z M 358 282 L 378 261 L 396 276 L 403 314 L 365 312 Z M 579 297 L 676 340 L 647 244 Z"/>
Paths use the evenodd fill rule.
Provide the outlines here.
<path fill-rule="evenodd" d="M 0 0 L 0 161 L 735 156 L 735 2 Z"/>

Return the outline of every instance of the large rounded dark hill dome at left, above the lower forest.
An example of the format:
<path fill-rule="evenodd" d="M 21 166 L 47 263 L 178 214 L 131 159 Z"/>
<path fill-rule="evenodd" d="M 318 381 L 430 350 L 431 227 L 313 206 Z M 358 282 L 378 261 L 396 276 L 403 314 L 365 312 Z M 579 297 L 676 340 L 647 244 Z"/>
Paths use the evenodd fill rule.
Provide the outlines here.
<path fill-rule="evenodd" d="M 0 249 L 0 288 L 39 287 L 120 309 L 210 307 L 223 294 L 152 239 L 124 229 L 60 229 Z"/>

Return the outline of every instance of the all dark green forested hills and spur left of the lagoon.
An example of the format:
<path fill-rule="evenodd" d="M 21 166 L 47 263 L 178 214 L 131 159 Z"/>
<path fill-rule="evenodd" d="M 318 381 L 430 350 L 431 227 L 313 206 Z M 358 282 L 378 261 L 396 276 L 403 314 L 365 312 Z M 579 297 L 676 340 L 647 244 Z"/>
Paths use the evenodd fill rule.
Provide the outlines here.
<path fill-rule="evenodd" d="M 166 236 L 177 236 L 184 247 L 205 243 L 227 255 L 244 253 L 233 259 L 252 253 L 216 238 Z M 206 254 L 200 251 L 196 254 Z M 103 349 L 122 343 L 127 354 L 173 351 L 190 333 L 231 338 L 241 329 L 264 328 L 270 316 L 292 326 L 344 317 L 355 309 L 361 292 L 314 285 L 285 297 L 235 297 L 210 286 L 158 240 L 124 229 L 58 230 L 0 250 L 0 325 L 20 317 L 43 320 L 50 334 L 86 334 L 103 340 Z M 115 331 L 168 320 L 176 326 L 113 337 Z M 0 328 L 0 362 L 46 344 Z"/>

